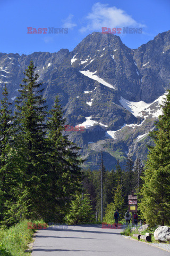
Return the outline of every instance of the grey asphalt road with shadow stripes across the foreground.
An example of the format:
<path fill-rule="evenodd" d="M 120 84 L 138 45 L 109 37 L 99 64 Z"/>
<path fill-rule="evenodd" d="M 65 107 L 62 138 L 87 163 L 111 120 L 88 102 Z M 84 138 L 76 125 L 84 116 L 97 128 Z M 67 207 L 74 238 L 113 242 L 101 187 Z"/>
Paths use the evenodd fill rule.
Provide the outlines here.
<path fill-rule="evenodd" d="M 120 235 L 122 230 L 101 225 L 49 227 L 38 230 L 32 256 L 169 256 L 169 252 Z"/>

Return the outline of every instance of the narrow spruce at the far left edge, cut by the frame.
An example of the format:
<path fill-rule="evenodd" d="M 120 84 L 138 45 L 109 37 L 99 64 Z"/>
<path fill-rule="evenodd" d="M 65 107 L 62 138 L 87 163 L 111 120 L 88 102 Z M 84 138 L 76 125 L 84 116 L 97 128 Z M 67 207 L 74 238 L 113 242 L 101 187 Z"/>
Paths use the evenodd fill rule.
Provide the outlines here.
<path fill-rule="evenodd" d="M 13 145 L 13 117 L 12 110 L 9 109 L 11 105 L 8 102 L 7 86 L 3 88 L 3 100 L 1 100 L 0 109 L 0 194 L 1 194 L 1 209 L 0 222 L 4 223 L 6 212 L 10 205 L 14 203 L 14 170 L 12 166 L 12 158 L 14 152 Z"/>

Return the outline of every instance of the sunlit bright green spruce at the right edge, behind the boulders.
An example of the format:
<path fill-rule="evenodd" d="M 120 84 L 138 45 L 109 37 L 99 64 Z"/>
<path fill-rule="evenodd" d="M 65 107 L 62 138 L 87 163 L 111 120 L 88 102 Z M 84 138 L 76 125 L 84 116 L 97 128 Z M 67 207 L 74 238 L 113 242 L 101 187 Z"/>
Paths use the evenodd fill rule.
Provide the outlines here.
<path fill-rule="evenodd" d="M 164 101 L 156 130 L 150 133 L 155 146 L 149 147 L 141 189 L 140 210 L 150 225 L 170 224 L 170 91 Z"/>

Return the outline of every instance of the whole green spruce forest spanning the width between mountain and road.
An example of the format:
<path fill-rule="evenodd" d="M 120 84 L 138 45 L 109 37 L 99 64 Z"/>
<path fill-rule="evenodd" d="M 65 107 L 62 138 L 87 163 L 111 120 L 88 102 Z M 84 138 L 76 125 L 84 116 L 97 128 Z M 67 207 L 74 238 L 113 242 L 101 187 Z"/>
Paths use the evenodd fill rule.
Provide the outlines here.
<path fill-rule="evenodd" d="M 104 221 L 114 219 L 118 209 L 123 219 L 128 195 L 138 195 L 139 214 L 152 225 L 169 223 L 170 210 L 170 96 L 163 115 L 150 133 L 145 166 L 131 156 L 121 168 L 83 170 L 80 148 L 64 134 L 58 97 L 47 111 L 42 83 L 30 62 L 18 90 L 15 110 L 10 109 L 7 85 L 0 107 L 0 224 L 11 226 L 22 219 L 46 222 L 86 223 L 101 220 L 101 191 Z M 102 188 L 101 188 L 102 185 Z"/>

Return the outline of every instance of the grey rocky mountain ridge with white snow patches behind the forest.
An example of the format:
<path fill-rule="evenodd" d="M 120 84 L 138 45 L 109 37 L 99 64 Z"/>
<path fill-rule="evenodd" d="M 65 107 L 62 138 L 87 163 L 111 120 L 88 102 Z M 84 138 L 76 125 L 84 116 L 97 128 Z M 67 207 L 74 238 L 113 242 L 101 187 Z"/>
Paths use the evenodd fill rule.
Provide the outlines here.
<path fill-rule="evenodd" d="M 101 150 L 109 170 L 116 159 L 123 164 L 128 152 L 133 159 L 146 159 L 148 133 L 169 88 L 170 30 L 138 49 L 125 46 L 118 36 L 94 32 L 72 52 L 0 53 L 0 92 L 7 83 L 12 102 L 30 60 L 49 108 L 58 94 L 67 124 L 85 127 L 66 132 L 82 147 L 88 159 L 84 167 L 97 168 Z"/>

